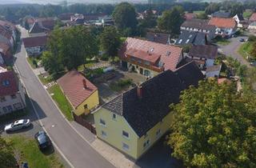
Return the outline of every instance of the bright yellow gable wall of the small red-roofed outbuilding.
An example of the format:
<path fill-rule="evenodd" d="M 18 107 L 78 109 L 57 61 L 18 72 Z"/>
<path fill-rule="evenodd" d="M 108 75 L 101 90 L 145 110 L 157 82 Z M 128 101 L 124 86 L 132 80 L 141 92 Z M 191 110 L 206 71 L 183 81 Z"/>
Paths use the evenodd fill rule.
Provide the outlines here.
<path fill-rule="evenodd" d="M 98 90 L 94 91 L 93 94 L 90 95 L 89 98 L 86 98 L 84 102 L 82 102 L 75 110 L 74 114 L 81 115 L 81 114 L 89 114 L 90 110 L 93 109 L 95 106 L 98 106 L 99 99 L 98 99 Z M 84 106 L 87 105 L 87 110 Z"/>

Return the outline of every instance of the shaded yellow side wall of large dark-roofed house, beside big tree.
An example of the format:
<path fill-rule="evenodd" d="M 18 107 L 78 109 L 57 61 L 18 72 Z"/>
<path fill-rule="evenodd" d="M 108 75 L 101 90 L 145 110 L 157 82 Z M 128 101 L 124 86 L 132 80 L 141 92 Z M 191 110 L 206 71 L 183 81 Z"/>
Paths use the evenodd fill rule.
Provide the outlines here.
<path fill-rule="evenodd" d="M 146 151 L 149 150 L 150 147 L 153 146 L 154 143 L 157 142 L 167 130 L 169 130 L 170 118 L 171 113 L 167 114 L 166 117 L 162 119 L 162 122 L 158 122 L 153 128 L 147 131 L 146 136 L 143 135 L 138 139 L 138 158 L 140 158 L 142 154 L 145 154 Z M 157 134 L 158 130 L 160 130 L 159 134 Z M 148 146 L 144 146 L 144 143 L 148 140 L 150 141 L 150 144 Z"/>

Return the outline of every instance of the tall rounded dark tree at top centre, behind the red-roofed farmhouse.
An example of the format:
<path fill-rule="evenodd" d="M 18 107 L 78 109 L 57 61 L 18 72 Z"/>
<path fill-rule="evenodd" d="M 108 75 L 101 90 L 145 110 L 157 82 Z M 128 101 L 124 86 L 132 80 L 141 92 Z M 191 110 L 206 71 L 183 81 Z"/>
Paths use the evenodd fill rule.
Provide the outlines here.
<path fill-rule="evenodd" d="M 113 18 L 120 30 L 134 30 L 138 24 L 135 8 L 128 2 L 122 2 L 114 8 Z"/>

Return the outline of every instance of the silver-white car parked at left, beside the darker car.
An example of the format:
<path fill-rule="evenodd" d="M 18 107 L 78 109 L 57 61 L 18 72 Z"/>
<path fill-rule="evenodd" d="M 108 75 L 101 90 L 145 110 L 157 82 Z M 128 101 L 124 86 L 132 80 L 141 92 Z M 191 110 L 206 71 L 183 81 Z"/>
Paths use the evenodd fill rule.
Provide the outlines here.
<path fill-rule="evenodd" d="M 5 131 L 21 130 L 31 125 L 30 119 L 20 119 L 5 126 Z"/>

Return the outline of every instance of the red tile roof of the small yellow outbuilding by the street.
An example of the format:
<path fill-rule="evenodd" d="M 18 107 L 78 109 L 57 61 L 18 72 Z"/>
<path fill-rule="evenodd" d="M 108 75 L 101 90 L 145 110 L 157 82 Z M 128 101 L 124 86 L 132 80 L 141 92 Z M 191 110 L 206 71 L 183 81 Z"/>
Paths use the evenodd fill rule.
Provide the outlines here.
<path fill-rule="evenodd" d="M 83 85 L 84 79 L 86 80 L 86 89 Z M 86 98 L 89 98 L 94 91 L 98 90 L 94 84 L 76 70 L 66 73 L 57 82 L 74 108 L 78 107 Z"/>

